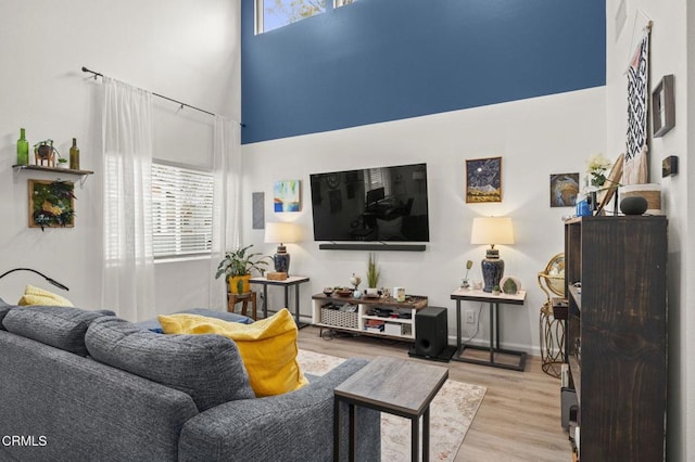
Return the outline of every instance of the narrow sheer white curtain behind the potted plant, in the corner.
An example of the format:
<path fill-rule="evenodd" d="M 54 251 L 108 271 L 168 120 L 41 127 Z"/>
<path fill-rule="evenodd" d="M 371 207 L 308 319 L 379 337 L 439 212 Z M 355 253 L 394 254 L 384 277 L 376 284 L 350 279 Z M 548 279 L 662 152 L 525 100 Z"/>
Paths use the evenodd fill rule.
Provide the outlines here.
<path fill-rule="evenodd" d="M 241 226 L 241 141 L 239 124 L 215 116 L 214 129 L 214 214 L 213 249 L 210 268 L 210 307 L 226 310 L 225 280 L 215 279 L 225 252 L 240 243 Z"/>

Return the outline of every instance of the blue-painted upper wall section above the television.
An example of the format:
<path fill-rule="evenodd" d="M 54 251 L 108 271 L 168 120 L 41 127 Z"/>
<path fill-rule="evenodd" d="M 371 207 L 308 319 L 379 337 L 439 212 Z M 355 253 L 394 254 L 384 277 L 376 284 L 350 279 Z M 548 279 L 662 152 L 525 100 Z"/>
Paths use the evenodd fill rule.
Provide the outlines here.
<path fill-rule="evenodd" d="M 257 36 L 241 2 L 242 143 L 606 84 L 605 0 L 358 0 Z"/>

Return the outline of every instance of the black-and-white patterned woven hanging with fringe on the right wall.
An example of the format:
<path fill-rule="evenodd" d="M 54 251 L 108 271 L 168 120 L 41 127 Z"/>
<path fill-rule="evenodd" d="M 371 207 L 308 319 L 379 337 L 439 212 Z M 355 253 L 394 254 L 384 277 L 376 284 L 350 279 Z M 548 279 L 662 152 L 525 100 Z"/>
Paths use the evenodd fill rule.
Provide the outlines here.
<path fill-rule="evenodd" d="M 649 33 L 652 22 L 642 30 L 642 39 L 628 67 L 628 141 L 623 183 L 647 182 L 647 94 L 649 84 Z"/>

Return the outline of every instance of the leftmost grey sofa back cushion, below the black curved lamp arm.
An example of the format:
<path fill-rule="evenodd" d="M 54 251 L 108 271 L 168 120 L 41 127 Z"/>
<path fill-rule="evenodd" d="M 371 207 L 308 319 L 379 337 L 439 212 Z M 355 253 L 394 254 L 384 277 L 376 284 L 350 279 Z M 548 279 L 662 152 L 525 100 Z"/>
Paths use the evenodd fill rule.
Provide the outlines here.
<path fill-rule="evenodd" d="M 4 316 L 2 325 L 13 334 L 87 356 L 87 328 L 93 320 L 103 316 L 101 312 L 73 307 L 12 307 Z"/>

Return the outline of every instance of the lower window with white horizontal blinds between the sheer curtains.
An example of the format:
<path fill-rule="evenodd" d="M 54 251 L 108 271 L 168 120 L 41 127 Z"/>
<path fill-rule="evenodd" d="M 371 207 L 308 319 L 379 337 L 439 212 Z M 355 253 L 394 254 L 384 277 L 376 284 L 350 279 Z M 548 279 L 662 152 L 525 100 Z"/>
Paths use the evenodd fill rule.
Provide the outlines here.
<path fill-rule="evenodd" d="M 154 258 L 211 252 L 213 184 L 211 172 L 152 164 Z"/>

